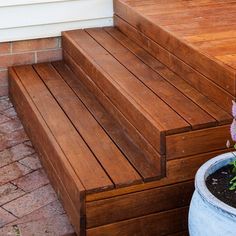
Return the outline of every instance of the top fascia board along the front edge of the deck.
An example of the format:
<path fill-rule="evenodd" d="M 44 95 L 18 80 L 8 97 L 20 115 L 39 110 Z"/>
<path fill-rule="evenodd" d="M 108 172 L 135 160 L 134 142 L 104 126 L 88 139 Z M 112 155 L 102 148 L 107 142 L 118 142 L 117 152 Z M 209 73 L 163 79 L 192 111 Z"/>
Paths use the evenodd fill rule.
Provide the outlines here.
<path fill-rule="evenodd" d="M 223 88 L 223 90 L 235 96 L 235 70 L 220 61 L 214 60 L 209 55 L 200 52 L 200 50 L 190 43 L 170 33 L 162 22 L 161 16 L 158 15 L 158 8 L 156 9 L 156 13 L 149 14 L 145 12 L 142 7 L 136 8 L 133 2 L 116 0 L 114 4 L 116 15 L 170 53 L 185 61 L 193 69 L 204 74 L 211 81 Z M 157 2 L 149 4 L 155 7 Z M 163 3 L 163 5 L 164 4 L 165 3 Z M 167 16 L 164 17 L 166 18 Z M 175 17 L 173 16 L 172 19 L 169 18 L 169 20 L 174 21 Z M 190 17 L 189 22 L 191 22 L 191 20 L 192 18 Z"/>

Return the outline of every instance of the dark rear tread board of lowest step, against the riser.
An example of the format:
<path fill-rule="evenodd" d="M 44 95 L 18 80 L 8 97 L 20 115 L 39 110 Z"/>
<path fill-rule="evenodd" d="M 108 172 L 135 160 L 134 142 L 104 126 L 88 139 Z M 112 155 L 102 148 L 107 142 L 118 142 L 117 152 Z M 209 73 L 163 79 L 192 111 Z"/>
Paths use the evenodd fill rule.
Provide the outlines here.
<path fill-rule="evenodd" d="M 117 118 L 109 114 L 106 109 L 97 102 L 94 95 L 85 88 L 67 66 L 61 62 L 53 64 L 62 78 L 91 112 L 96 121 L 103 127 L 109 137 L 142 176 L 143 181 L 159 179 L 162 175 L 161 157 L 154 152 L 150 155 L 145 150 L 139 148 L 127 131 L 117 123 Z M 81 77 L 82 75 L 80 78 Z M 121 174 L 123 175 L 123 170 L 121 170 Z"/>

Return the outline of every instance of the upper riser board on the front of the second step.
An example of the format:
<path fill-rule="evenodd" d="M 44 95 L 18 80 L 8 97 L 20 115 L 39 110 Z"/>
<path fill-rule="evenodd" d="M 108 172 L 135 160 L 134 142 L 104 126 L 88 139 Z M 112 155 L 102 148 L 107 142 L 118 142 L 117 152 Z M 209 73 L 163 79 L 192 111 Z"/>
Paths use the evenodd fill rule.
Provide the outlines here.
<path fill-rule="evenodd" d="M 119 109 L 125 118 L 144 136 L 144 138 L 156 149 L 161 155 L 165 154 L 165 137 L 164 133 L 150 123 L 143 114 L 141 114 L 125 97 L 117 91 L 106 77 L 97 70 L 96 67 L 86 58 L 83 53 L 73 45 L 65 36 L 62 39 L 64 51 L 76 62 L 83 71 L 93 80 L 96 86 L 103 91 L 104 95 Z M 66 60 L 66 56 L 65 56 Z M 66 62 L 70 65 L 69 60 Z M 78 66 L 78 65 L 77 65 Z M 103 83 L 101 83 L 103 81 Z M 105 105 L 105 104 L 103 104 Z"/>

